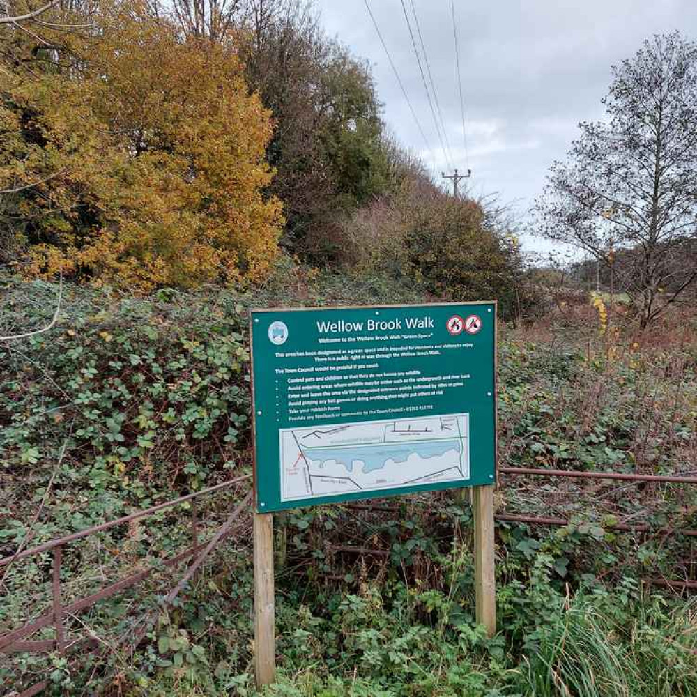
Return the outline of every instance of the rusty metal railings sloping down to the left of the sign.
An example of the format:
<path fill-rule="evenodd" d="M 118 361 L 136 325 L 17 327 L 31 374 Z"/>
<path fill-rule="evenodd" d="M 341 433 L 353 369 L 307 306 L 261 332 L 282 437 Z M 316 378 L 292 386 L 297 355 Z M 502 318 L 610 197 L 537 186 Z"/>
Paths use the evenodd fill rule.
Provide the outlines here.
<path fill-rule="evenodd" d="M 244 475 L 242 477 L 236 477 L 235 479 L 229 480 L 227 482 L 222 482 L 222 484 L 217 484 L 215 487 L 208 487 L 207 489 L 201 489 L 201 491 L 195 491 L 194 493 L 187 494 L 187 496 L 181 496 L 179 498 L 160 503 L 158 505 L 131 513 L 127 516 L 108 521 L 107 523 L 101 523 L 100 525 L 92 526 L 91 528 L 86 528 L 85 530 L 80 530 L 78 533 L 73 533 L 72 535 L 66 535 L 65 537 L 59 537 L 57 539 L 52 539 L 49 542 L 44 542 L 37 546 L 31 547 L 30 549 L 18 549 L 14 554 L 0 559 L 0 572 L 2 573 L 2 579 L 6 577 L 6 574 L 10 567 L 15 564 L 15 562 L 20 562 L 26 558 L 37 556 L 44 552 L 52 552 L 52 608 L 49 612 L 40 615 L 38 618 L 31 620 L 31 622 L 26 622 L 22 627 L 13 629 L 6 632 L 6 634 L 0 635 L 0 654 L 9 654 L 13 652 L 53 652 L 56 651 L 61 655 L 66 655 L 66 650 L 68 648 L 75 649 L 77 646 L 70 645 L 68 647 L 68 641 L 66 641 L 66 631 L 65 631 L 65 620 L 66 617 L 72 617 L 77 615 L 88 608 L 95 606 L 98 602 L 105 600 L 113 595 L 116 595 L 123 590 L 130 588 L 137 583 L 141 583 L 149 576 L 152 576 L 155 572 L 162 569 L 162 567 L 177 567 L 185 560 L 194 557 L 194 560 L 190 565 L 188 565 L 185 573 L 178 581 L 178 583 L 172 588 L 163 599 L 163 605 L 167 606 L 177 597 L 177 595 L 185 588 L 185 585 L 192 579 L 194 574 L 196 574 L 197 569 L 203 564 L 203 562 L 208 558 L 210 553 L 215 549 L 217 544 L 222 542 L 231 533 L 231 528 L 233 523 L 240 517 L 245 508 L 247 508 L 252 499 L 252 493 L 248 492 L 244 496 L 241 503 L 239 503 L 233 512 L 230 514 L 228 519 L 218 528 L 207 542 L 199 542 L 199 533 L 201 521 L 199 521 L 199 515 L 197 510 L 197 500 L 201 496 L 206 496 L 211 493 L 222 491 L 223 489 L 230 489 L 236 484 L 242 482 L 247 482 L 250 480 L 251 475 Z M 132 521 L 138 519 L 144 519 L 148 516 L 152 516 L 162 510 L 167 508 L 176 507 L 185 503 L 190 503 L 192 507 L 191 515 L 191 546 L 187 549 L 171 556 L 167 559 L 160 560 L 156 565 L 152 565 L 146 569 L 141 569 L 141 571 L 135 574 L 130 574 L 125 576 L 118 581 L 114 581 L 109 585 L 98 590 L 91 595 L 81 597 L 75 602 L 64 605 L 61 599 L 61 565 L 63 563 L 63 549 L 69 545 L 77 542 L 79 539 L 89 537 L 90 535 L 95 535 L 96 533 L 102 533 L 105 530 L 114 528 L 116 526 L 122 526 Z M 2 580 L 0 579 L 0 581 Z M 39 641 L 31 641 L 29 637 L 36 634 L 40 629 L 45 627 L 54 627 L 54 638 L 43 639 Z M 132 652 L 137 647 L 137 643 L 143 638 L 143 636 L 148 631 L 148 622 L 141 622 L 141 627 L 134 633 L 133 640 L 130 646 L 125 649 L 125 652 Z M 94 644 L 90 642 L 89 639 L 86 640 L 87 643 Z M 82 643 L 78 642 L 80 648 L 82 648 Z M 98 652 L 100 646 L 91 645 L 89 647 L 91 652 Z M 22 692 L 14 692 L 17 697 L 31 697 L 32 695 L 38 694 L 49 686 L 48 680 L 41 680 L 36 684 L 31 685 L 24 689 Z"/>

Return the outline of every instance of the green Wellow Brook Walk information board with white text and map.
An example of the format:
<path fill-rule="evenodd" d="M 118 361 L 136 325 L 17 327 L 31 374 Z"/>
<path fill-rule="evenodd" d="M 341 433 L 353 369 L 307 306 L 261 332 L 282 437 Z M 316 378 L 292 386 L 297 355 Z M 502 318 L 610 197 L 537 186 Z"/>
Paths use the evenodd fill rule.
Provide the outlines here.
<path fill-rule="evenodd" d="M 496 480 L 496 303 L 252 311 L 256 510 Z"/>

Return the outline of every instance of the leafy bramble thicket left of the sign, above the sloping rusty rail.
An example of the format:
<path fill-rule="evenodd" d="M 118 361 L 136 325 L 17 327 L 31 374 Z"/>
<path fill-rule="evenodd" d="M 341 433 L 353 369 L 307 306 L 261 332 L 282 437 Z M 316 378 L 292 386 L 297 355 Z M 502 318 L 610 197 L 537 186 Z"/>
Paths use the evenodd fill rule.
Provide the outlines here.
<path fill-rule="evenodd" d="M 55 286 L 3 285 L 3 328 L 36 327 L 52 314 Z M 56 330 L 0 345 L 0 461 L 15 501 L 14 533 L 6 526 L 3 542 L 22 538 L 22 501 L 31 505 L 63 448 L 54 487 L 91 492 L 81 527 L 242 466 L 244 332 L 240 303 L 224 293 L 133 299 L 66 286 Z M 64 531 L 56 521 L 45 534 Z"/>

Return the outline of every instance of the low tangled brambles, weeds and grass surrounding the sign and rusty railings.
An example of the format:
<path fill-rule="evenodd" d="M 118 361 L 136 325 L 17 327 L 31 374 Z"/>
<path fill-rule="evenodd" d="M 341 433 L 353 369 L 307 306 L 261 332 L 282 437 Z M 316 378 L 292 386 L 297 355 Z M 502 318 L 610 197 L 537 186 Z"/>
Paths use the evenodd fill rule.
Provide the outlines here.
<path fill-rule="evenodd" d="M 55 293 L 54 284 L 5 277 L 2 331 L 40 325 Z M 365 278 L 348 283 L 298 266 L 277 270 L 256 296 L 163 289 L 134 300 L 68 286 L 55 332 L 3 347 L 2 555 L 22 543 L 41 505 L 31 544 L 247 472 L 245 307 L 375 302 L 381 293 Z M 413 288 L 392 293 L 381 299 L 419 299 Z M 579 324 L 562 343 L 550 341 L 544 325 L 505 330 L 503 463 L 694 470 L 697 348 L 687 341 L 694 327 L 666 328 L 670 351 L 630 345 L 608 360 L 595 317 L 588 332 Z M 503 484 L 500 513 L 571 522 L 549 530 L 498 524 L 500 620 L 491 640 L 473 620 L 470 512 L 449 494 L 387 500 L 385 511 L 278 516 L 281 679 L 266 694 L 695 694 L 694 609 L 642 583 L 694 579 L 690 538 L 660 532 L 697 527 L 694 494 L 672 485 Z M 234 492 L 208 499 L 200 534 L 213 533 L 237 500 Z M 186 507 L 171 510 L 68 546 L 66 600 L 185 548 L 190 516 Z M 652 533 L 613 530 L 636 519 Z M 55 694 L 102 683 L 129 695 L 256 694 L 248 524 L 240 520 L 197 581 L 159 614 L 158 589 L 177 578 L 165 569 L 140 592 L 126 590 L 70 619 L 70 636 L 91 632 L 107 652 L 70 668 L 55 656 L 10 654 L 0 667 L 6 686 L 47 671 Z M 388 556 L 335 549 L 346 544 Z M 15 562 L 3 582 L 10 599 L 3 628 L 50 606 L 49 580 L 49 557 Z M 154 624 L 128 657 L 144 613 Z"/>

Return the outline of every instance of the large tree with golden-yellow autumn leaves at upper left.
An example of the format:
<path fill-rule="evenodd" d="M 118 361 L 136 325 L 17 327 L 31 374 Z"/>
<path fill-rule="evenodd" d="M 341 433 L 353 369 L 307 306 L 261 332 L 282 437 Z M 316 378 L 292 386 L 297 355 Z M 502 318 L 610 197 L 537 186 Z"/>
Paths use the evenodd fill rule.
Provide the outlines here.
<path fill-rule="evenodd" d="M 0 85 L 0 133 L 11 136 L 0 188 L 47 178 L 17 204 L 30 221 L 29 273 L 62 266 L 143 290 L 262 279 L 282 206 L 263 197 L 273 125 L 238 59 L 137 5 L 100 22 L 100 40 L 72 47 L 83 70 Z"/>

